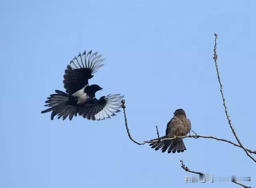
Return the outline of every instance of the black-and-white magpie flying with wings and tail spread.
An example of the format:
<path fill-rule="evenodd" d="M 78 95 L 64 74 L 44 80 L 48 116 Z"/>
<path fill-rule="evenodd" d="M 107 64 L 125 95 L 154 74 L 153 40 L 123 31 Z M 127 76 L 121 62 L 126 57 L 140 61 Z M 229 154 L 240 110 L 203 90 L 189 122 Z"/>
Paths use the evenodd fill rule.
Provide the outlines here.
<path fill-rule="evenodd" d="M 121 105 L 121 99 L 124 96 L 120 94 L 107 95 L 95 98 L 95 93 L 102 88 L 98 85 L 89 85 L 88 79 L 91 79 L 94 73 L 102 67 L 101 64 L 105 59 L 100 59 L 102 55 L 97 55 L 98 52 L 93 53 L 89 51 L 86 54 L 79 53 L 77 57 L 74 57 L 70 61 L 70 65 L 67 66 L 64 74 L 64 88 L 63 91 L 55 90 L 55 94 L 50 95 L 44 105 L 50 107 L 41 113 L 47 113 L 52 111 L 51 119 L 54 116 L 58 116 L 58 119 L 72 120 L 74 116 L 80 115 L 87 119 L 102 120 L 114 116 L 116 112 L 120 112 L 118 108 Z"/>

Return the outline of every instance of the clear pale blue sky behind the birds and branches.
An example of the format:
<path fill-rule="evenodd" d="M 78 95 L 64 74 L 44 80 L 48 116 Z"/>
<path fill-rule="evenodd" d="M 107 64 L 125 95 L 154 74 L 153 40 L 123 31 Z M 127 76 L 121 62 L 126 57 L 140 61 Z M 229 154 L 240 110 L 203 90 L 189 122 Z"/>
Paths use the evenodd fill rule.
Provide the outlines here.
<path fill-rule="evenodd" d="M 122 113 L 106 121 L 50 120 L 41 114 L 69 61 L 92 49 L 106 58 L 90 80 L 125 95 L 134 139 L 165 134 L 183 108 L 198 134 L 235 141 L 226 120 L 213 56 L 238 136 L 255 146 L 255 1 L 12 1 L 0 2 L 2 188 L 205 187 L 184 182 L 193 170 L 252 176 L 255 163 L 240 148 L 185 139 L 167 154 L 128 139 Z M 239 187 L 232 183 L 208 187 Z"/>

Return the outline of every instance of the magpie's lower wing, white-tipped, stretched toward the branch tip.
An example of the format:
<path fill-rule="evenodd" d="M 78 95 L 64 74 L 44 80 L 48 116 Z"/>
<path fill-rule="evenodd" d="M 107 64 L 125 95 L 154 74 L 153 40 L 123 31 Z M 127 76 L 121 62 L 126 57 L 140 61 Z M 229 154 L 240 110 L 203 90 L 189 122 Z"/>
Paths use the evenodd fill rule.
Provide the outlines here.
<path fill-rule="evenodd" d="M 122 107 L 121 99 L 124 96 L 120 94 L 107 95 L 106 97 L 100 97 L 100 99 L 92 99 L 84 103 L 84 105 L 77 106 L 77 113 L 84 118 L 92 120 L 102 120 L 114 116 L 117 112 L 120 112 L 118 108 Z"/>

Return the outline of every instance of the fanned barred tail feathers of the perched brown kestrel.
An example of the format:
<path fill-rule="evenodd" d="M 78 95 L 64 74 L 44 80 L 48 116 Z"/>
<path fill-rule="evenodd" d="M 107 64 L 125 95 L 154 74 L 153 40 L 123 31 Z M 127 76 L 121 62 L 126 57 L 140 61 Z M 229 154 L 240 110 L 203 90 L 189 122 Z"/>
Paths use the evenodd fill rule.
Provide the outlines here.
<path fill-rule="evenodd" d="M 168 137 L 167 136 L 160 137 L 160 139 L 166 139 L 166 138 Z M 157 141 L 157 140 L 158 139 L 153 139 L 151 141 Z M 168 149 L 168 153 L 170 152 L 175 153 L 176 151 L 179 153 L 179 152 L 184 152 L 184 150 L 186 150 L 186 146 L 181 138 L 160 141 L 160 142 L 153 142 L 150 144 L 150 146 L 152 146 L 151 148 L 155 148 L 155 150 L 159 150 L 160 148 L 162 148 L 162 152 L 165 152 Z"/>

